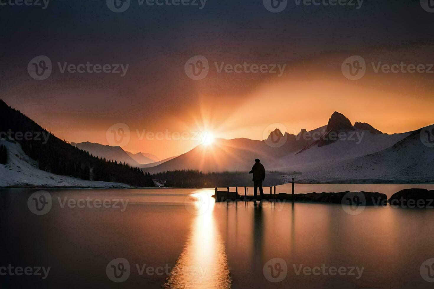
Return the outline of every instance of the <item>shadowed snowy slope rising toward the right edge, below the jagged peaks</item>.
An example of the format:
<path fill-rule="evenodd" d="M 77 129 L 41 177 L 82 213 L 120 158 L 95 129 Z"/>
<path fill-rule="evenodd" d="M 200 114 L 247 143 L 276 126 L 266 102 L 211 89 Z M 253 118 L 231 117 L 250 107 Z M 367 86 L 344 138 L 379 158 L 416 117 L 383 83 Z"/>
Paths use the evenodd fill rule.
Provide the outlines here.
<path fill-rule="evenodd" d="M 421 141 L 421 130 L 415 130 L 394 145 L 352 159 L 321 160 L 298 164 L 286 169 L 306 182 L 434 182 L 434 148 Z"/>

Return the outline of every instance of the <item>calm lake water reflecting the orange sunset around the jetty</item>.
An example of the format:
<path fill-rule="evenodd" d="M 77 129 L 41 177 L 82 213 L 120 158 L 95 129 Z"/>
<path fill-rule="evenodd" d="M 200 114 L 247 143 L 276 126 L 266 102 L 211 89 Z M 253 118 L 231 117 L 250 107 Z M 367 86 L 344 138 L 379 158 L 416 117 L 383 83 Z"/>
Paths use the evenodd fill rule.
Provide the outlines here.
<path fill-rule="evenodd" d="M 402 188 L 434 185 L 296 185 L 296 193 L 364 190 L 390 197 Z M 212 189 L 32 195 L 38 191 L 0 189 L 2 288 L 433 286 L 425 279 L 434 281 L 428 260 L 434 258 L 434 209 L 366 207 L 351 215 L 332 204 L 227 206 L 210 198 Z M 276 191 L 290 192 L 290 185 Z M 9 264 L 13 275 L 1 268 Z M 16 275 L 17 267 L 36 272 L 39 266 L 49 272 Z"/>

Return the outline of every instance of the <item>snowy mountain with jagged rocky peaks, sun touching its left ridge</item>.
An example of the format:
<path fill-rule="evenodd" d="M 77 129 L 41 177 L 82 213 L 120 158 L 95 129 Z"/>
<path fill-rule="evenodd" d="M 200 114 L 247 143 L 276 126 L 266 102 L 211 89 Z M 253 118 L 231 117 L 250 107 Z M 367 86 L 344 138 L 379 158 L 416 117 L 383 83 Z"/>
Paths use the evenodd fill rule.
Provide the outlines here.
<path fill-rule="evenodd" d="M 351 121 L 334 112 L 326 126 L 301 130 L 299 134 L 270 133 L 266 140 L 216 140 L 200 145 L 172 160 L 149 169 L 163 172 L 174 169 L 199 169 L 204 172 L 248 171 L 259 158 L 267 170 L 315 172 L 319 166 L 341 166 L 349 160 L 375 154 L 394 146 L 411 134 L 386 134 L 368 123 Z M 279 143 L 284 140 L 284 143 Z M 278 145 L 276 145 L 278 144 Z M 393 157 L 391 157 L 393 158 Z M 345 172 L 342 172 L 345 179 Z"/>

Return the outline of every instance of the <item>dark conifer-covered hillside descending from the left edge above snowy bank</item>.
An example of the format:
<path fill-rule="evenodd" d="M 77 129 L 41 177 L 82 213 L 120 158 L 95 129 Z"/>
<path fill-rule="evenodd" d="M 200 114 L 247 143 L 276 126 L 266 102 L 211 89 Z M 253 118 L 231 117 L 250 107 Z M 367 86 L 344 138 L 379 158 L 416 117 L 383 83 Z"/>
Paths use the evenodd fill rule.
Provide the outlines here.
<path fill-rule="evenodd" d="M 0 100 L 0 131 L 7 132 L 45 132 L 36 122 L 19 110 L 9 107 Z M 92 156 L 89 152 L 72 146 L 50 133 L 48 140 L 15 140 L 27 156 L 38 162 L 39 169 L 56 175 L 69 175 L 79 179 L 122 182 L 128 185 L 154 186 L 150 174 L 144 174 L 140 168 L 116 160 L 106 160 Z M 0 153 L 3 154 L 4 153 Z M 7 153 L 6 153 L 7 155 Z M 0 156 L 0 159 L 2 157 Z"/>

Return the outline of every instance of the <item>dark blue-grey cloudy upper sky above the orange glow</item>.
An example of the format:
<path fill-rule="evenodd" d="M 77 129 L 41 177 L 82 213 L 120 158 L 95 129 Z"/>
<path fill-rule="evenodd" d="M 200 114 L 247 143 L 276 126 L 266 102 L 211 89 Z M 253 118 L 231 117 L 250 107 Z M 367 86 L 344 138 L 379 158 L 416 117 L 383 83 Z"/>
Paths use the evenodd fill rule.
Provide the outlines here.
<path fill-rule="evenodd" d="M 200 3 L 139 6 L 132 0 L 123 13 L 109 10 L 105 0 L 51 0 L 44 10 L 41 6 L 0 6 L 0 95 L 55 133 L 77 141 L 77 133 L 66 131 L 90 125 L 105 131 L 108 123 L 115 122 L 167 127 L 174 115 L 181 114 L 179 121 L 189 123 L 194 118 L 191 114 L 206 103 L 238 107 L 234 97 L 247 101 L 258 84 L 269 78 L 210 72 L 203 81 L 192 81 L 184 73 L 184 64 L 194 55 L 204 55 L 210 62 L 287 63 L 301 69 L 296 74 L 300 81 L 339 72 L 342 60 L 351 55 L 396 62 L 406 55 L 404 61 L 433 62 L 434 13 L 424 11 L 419 0 L 365 0 L 358 10 L 354 3 L 297 6 L 291 0 L 280 13 L 266 10 L 263 0 L 207 0 L 203 9 Z M 393 57 L 395 53 L 399 56 Z M 38 55 L 53 62 L 52 75 L 43 81 L 27 72 L 27 64 Z M 62 74 L 58 61 L 122 63 L 129 68 L 122 78 Z M 429 88 L 432 78 L 423 81 L 430 83 Z M 356 85 L 403 83 L 369 81 Z M 427 94 L 426 90 L 419 92 Z M 433 100 L 431 94 L 420 98 Z M 221 111 L 234 113 L 229 107 Z M 285 121 L 290 120 L 279 122 Z"/>

